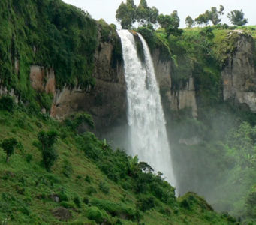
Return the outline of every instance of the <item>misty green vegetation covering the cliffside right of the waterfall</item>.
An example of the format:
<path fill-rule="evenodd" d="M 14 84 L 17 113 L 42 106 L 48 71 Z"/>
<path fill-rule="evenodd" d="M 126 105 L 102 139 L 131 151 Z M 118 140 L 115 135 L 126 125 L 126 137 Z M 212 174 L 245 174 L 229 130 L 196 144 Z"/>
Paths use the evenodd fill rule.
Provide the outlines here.
<path fill-rule="evenodd" d="M 219 13 L 222 11 L 220 8 Z M 255 220 L 256 117 L 249 110 L 223 101 L 221 71 L 229 55 L 236 53 L 239 40 L 255 39 L 255 30 L 254 26 L 217 24 L 185 28 L 177 35 L 168 33 L 166 27 L 137 28 L 151 52 L 160 49 L 162 61 L 172 60 L 172 92 L 183 89 L 194 78 L 197 120 L 188 113 L 190 109 L 165 112 L 181 193 L 197 190 L 207 196 L 213 208 L 228 211 L 242 224 L 254 224 Z M 164 93 L 162 90 L 163 97 Z M 191 208 L 188 199 L 181 204 Z M 146 198 L 138 205 L 146 211 L 145 205 L 150 208 L 154 200 Z M 225 213 L 222 216 L 233 221 Z"/>

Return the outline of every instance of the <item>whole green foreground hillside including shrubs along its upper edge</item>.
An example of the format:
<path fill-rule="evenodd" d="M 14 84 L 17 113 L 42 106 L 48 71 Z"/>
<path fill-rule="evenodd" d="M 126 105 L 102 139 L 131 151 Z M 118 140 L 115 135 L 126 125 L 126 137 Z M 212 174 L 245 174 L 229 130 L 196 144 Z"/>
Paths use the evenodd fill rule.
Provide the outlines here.
<path fill-rule="evenodd" d="M 161 172 L 155 175 L 137 157 L 113 151 L 106 140 L 28 113 L 22 105 L 13 113 L 0 110 L 0 139 L 15 136 L 18 142 L 9 163 L 0 152 L 1 223 L 232 224 L 194 194 L 176 199 Z M 42 149 L 53 150 L 54 144 L 58 151 L 51 172 L 41 164 L 37 139 Z"/>

